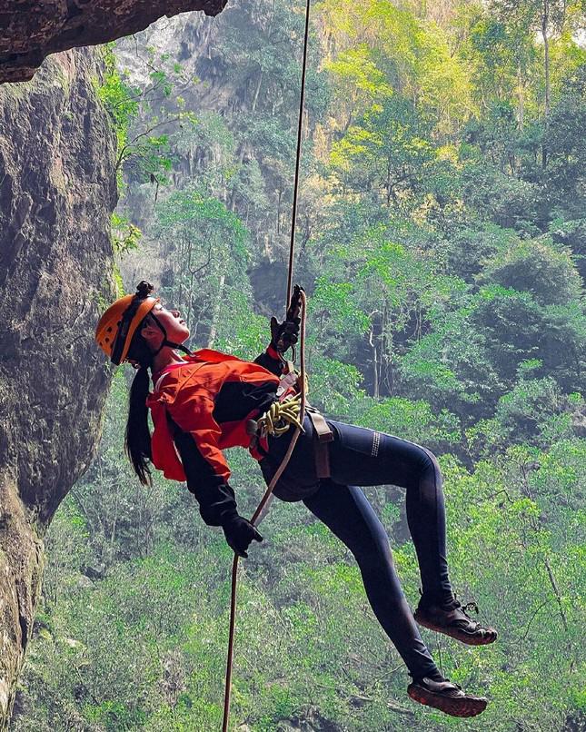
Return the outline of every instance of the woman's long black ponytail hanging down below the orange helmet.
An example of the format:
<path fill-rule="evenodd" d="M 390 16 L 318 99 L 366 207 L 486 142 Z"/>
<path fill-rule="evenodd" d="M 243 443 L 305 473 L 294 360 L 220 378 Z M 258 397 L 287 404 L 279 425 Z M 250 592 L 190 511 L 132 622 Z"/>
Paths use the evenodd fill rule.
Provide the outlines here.
<path fill-rule="evenodd" d="M 128 399 L 128 420 L 124 436 L 124 450 L 131 461 L 134 472 L 141 483 L 152 484 L 151 470 L 148 461 L 152 460 L 151 430 L 148 424 L 148 407 L 146 398 L 149 392 L 149 368 L 153 366 L 153 352 L 144 341 L 141 330 L 151 320 L 149 312 L 134 332 L 126 358 L 140 363 L 136 371 Z"/>

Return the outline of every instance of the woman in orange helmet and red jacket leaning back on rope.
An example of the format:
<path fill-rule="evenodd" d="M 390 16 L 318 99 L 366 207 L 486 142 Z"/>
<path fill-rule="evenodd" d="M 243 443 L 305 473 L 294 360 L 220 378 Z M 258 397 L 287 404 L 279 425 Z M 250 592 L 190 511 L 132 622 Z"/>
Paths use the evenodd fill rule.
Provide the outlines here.
<path fill-rule="evenodd" d="M 262 537 L 238 513 L 222 450 L 248 448 L 260 461 L 267 483 L 273 477 L 293 430 L 271 436 L 256 428 L 278 401 L 282 353 L 296 341 L 299 320 L 291 317 L 292 309 L 281 324 L 273 318 L 271 344 L 253 362 L 209 349 L 191 354 L 183 345 L 189 329 L 179 312 L 166 310 L 152 291 L 152 285 L 141 282 L 135 295 L 120 298 L 104 312 L 96 330 L 98 345 L 114 363 L 129 361 L 138 370 L 130 393 L 126 451 L 144 484 L 150 480 L 149 461 L 166 478 L 186 480 L 205 523 L 221 526 L 231 548 L 246 557 L 251 542 Z M 154 383 L 150 394 L 148 369 Z M 353 552 L 372 610 L 412 676 L 409 696 L 454 717 L 480 714 L 487 700 L 442 678 L 415 623 L 469 645 L 496 639 L 496 631 L 469 618 L 452 593 L 442 476 L 435 457 L 391 435 L 334 420 L 327 424 L 333 432 L 330 477 L 317 477 L 313 422 L 306 417 L 274 494 L 282 500 L 303 500 Z M 357 487 L 382 484 L 407 491 L 407 519 L 422 579 L 414 616 L 393 568 L 387 535 Z"/>

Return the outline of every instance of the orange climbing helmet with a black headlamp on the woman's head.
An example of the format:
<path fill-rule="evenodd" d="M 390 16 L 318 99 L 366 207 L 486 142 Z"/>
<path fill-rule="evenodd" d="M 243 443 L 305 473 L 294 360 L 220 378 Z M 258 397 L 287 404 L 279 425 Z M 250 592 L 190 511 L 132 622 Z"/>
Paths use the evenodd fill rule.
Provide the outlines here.
<path fill-rule="evenodd" d="M 95 342 L 116 365 L 125 360 L 141 321 L 160 302 L 158 297 L 151 297 L 153 289 L 149 282 L 140 282 L 136 294 L 124 295 L 116 300 L 97 324 Z"/>

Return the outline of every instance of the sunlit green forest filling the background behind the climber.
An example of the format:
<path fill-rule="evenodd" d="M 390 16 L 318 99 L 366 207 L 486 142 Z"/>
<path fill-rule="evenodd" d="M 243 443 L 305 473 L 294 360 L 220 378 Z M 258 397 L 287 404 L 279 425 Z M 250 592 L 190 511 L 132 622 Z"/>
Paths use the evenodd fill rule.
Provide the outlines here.
<path fill-rule="evenodd" d="M 251 0 L 214 23 L 197 64 L 141 46 L 142 84 L 108 52 L 116 229 L 193 344 L 253 358 L 283 308 L 303 12 Z M 467 648 L 424 633 L 491 704 L 469 722 L 416 707 L 352 557 L 275 500 L 243 564 L 234 729 L 586 724 L 580 25 L 581 6 L 557 0 L 315 7 L 296 261 L 311 399 L 440 456 L 452 579 L 500 636 Z M 232 555 L 183 486 L 133 478 L 131 376 L 116 375 L 98 457 L 49 533 L 17 732 L 219 728 Z M 251 514 L 260 472 L 229 458 Z M 367 495 L 414 604 L 402 491 Z"/>

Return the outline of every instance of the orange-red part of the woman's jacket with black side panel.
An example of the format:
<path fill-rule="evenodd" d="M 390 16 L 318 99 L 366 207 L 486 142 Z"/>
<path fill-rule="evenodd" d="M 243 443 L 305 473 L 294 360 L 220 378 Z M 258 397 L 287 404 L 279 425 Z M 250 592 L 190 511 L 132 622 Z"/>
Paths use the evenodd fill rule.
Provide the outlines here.
<path fill-rule="evenodd" d="M 278 354 L 270 348 L 267 354 L 269 365 L 273 361 L 274 371 L 281 371 Z M 266 362 L 266 354 L 264 359 Z M 174 426 L 168 420 L 171 418 L 180 430 L 193 437 L 204 459 L 198 480 L 226 484 L 230 469 L 222 450 L 236 446 L 250 449 L 246 421 L 268 408 L 279 377 L 256 362 L 204 349 L 185 356 L 184 364 L 154 374 L 153 379 L 154 391 L 146 404 L 154 423 L 151 445 L 155 468 L 163 470 L 165 478 L 186 480 L 174 445 Z M 256 450 L 251 450 L 251 454 L 256 460 L 262 457 Z"/>

